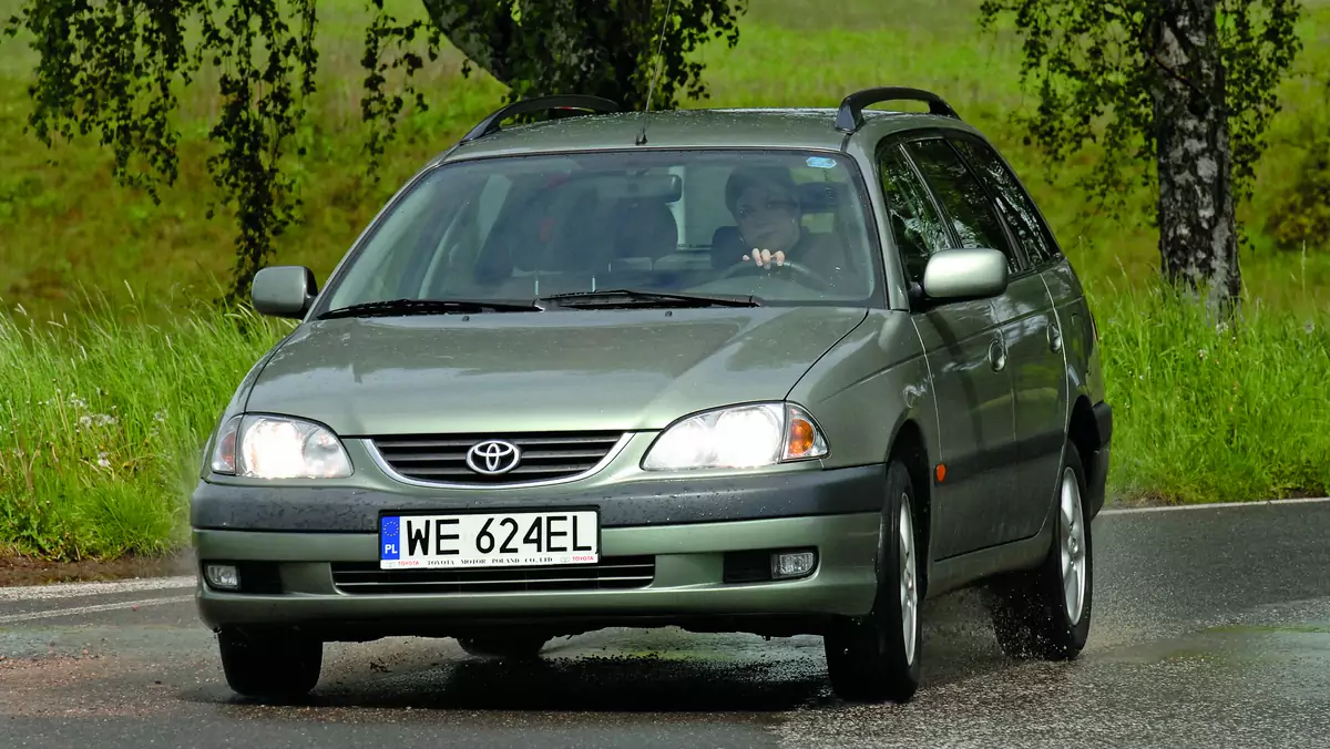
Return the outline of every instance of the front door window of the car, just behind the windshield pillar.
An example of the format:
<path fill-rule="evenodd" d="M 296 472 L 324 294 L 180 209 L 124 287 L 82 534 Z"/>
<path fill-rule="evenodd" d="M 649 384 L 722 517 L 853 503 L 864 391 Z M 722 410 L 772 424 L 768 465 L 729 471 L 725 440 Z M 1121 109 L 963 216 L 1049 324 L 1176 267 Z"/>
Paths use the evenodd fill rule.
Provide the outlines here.
<path fill-rule="evenodd" d="M 928 257 L 951 245 L 942 218 L 928 200 L 928 190 L 919 181 L 899 145 L 878 152 L 882 194 L 887 201 L 891 235 L 895 238 L 906 277 L 923 283 Z"/>

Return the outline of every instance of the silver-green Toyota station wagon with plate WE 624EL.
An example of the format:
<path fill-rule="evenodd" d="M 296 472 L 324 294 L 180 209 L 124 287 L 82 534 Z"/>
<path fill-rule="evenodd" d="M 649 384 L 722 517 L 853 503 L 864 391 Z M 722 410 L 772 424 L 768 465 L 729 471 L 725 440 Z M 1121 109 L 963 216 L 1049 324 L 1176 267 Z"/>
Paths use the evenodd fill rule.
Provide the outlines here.
<path fill-rule="evenodd" d="M 928 113 L 868 109 L 898 100 Z M 906 701 L 919 604 L 963 587 L 1015 657 L 1085 644 L 1095 318 L 932 93 L 519 101 L 322 290 L 267 267 L 253 302 L 299 325 L 221 415 L 190 512 L 239 694 L 307 693 L 331 641 L 537 657 L 680 627 L 821 636 L 838 696 Z"/>

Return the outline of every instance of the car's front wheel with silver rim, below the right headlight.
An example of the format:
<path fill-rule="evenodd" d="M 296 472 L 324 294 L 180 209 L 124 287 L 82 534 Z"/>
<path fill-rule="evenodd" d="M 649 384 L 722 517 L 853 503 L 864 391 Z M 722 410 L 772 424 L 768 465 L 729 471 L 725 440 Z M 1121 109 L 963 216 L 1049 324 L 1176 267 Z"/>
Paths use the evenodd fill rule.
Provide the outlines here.
<path fill-rule="evenodd" d="M 919 548 L 915 491 L 899 460 L 887 467 L 878 535 L 878 592 L 862 619 L 841 620 L 823 636 L 831 689 L 847 701 L 908 702 L 919 688 Z"/>

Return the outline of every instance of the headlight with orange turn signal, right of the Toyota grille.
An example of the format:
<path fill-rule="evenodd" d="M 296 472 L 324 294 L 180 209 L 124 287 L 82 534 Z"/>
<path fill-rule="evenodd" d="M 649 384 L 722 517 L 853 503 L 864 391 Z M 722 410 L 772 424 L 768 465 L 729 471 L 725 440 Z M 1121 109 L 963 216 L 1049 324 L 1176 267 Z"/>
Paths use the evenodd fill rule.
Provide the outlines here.
<path fill-rule="evenodd" d="M 757 403 L 670 426 L 648 451 L 642 468 L 755 468 L 827 452 L 826 438 L 807 411 L 793 403 Z"/>

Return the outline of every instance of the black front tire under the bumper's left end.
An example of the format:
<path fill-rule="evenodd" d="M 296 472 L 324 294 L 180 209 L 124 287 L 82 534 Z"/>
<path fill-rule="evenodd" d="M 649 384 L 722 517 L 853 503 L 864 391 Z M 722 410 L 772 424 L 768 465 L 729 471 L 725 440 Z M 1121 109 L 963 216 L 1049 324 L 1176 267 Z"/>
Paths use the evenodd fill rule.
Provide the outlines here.
<path fill-rule="evenodd" d="M 322 640 L 295 633 L 222 629 L 217 644 L 226 684 L 242 697 L 297 700 L 319 682 Z"/>

